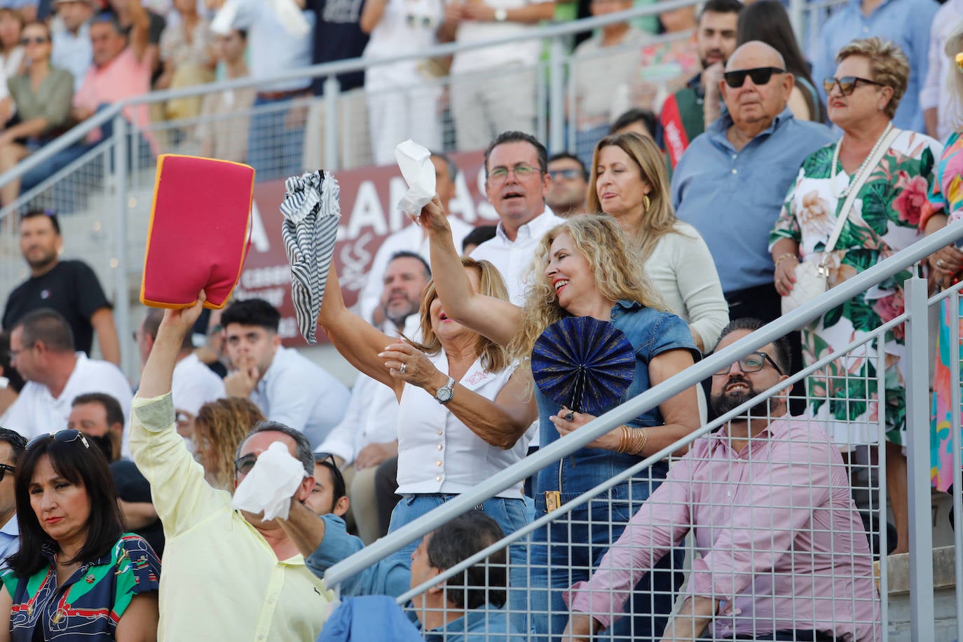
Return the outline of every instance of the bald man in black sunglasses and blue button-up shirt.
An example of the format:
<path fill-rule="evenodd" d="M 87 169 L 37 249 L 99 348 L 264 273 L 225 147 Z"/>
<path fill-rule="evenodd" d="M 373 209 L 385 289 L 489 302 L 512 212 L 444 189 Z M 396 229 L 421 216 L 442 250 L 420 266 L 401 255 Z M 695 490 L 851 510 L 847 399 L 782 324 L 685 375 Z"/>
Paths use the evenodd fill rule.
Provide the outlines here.
<path fill-rule="evenodd" d="M 802 161 L 833 141 L 826 126 L 793 117 L 786 104 L 794 79 L 785 69 L 768 44 L 739 47 L 719 83 L 728 112 L 692 141 L 672 174 L 672 205 L 709 245 L 730 319 L 781 315 L 768 231 Z M 798 359 L 797 333 L 791 341 Z"/>

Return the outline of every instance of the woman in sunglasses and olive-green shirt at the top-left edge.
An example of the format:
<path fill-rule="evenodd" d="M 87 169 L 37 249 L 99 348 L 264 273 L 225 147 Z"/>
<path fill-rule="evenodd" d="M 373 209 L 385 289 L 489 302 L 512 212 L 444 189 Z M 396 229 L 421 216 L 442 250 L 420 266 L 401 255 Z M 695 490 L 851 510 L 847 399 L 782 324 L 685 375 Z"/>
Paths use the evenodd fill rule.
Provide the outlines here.
<path fill-rule="evenodd" d="M 73 76 L 50 66 L 50 28 L 43 22 L 31 22 L 23 28 L 20 41 L 27 67 L 7 80 L 10 95 L 0 101 L 0 114 L 16 110 L 15 124 L 9 122 L 0 133 L 0 173 L 65 132 L 73 100 Z M 10 205 L 19 193 L 20 179 L 15 178 L 0 188 L 0 205 Z"/>

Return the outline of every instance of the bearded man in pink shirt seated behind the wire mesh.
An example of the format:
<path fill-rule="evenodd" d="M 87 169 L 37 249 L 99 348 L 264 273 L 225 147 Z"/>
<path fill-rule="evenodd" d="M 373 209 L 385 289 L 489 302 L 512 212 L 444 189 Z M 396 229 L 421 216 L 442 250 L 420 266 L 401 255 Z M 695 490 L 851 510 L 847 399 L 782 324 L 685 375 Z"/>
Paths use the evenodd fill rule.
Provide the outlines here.
<path fill-rule="evenodd" d="M 731 322 L 716 349 L 762 325 Z M 789 364 L 780 339 L 716 372 L 716 413 L 788 378 Z M 692 530 L 701 556 L 664 639 L 880 638 L 872 552 L 843 458 L 817 424 L 786 414 L 786 397 L 696 441 L 669 469 L 592 577 L 566 593 L 566 633 L 608 629 L 638 579 Z"/>

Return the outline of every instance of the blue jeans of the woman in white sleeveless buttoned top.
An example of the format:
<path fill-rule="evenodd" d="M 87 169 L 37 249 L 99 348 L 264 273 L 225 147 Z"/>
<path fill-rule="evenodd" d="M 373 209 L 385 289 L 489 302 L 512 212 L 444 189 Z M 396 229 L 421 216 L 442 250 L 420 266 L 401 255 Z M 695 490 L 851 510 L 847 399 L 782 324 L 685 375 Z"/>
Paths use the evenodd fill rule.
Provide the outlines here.
<path fill-rule="evenodd" d="M 391 513 L 391 526 L 388 526 L 388 533 L 390 534 L 402 526 L 414 522 L 433 508 L 437 508 L 446 501 L 454 500 L 456 497 L 457 495 L 404 495 Z M 502 532 L 508 535 L 532 523 L 530 501 L 496 497 L 475 506 L 475 510 L 483 511 L 485 515 L 498 522 L 498 526 L 502 527 Z M 404 565 L 410 568 L 411 553 L 418 548 L 420 542 L 421 540 L 418 540 L 408 544 L 392 557 L 397 557 L 399 561 L 403 561 Z M 512 629 L 518 632 L 529 631 L 528 614 L 526 612 L 529 603 L 527 563 L 528 541 L 526 538 L 522 538 L 511 545 L 508 566 L 508 617 Z"/>

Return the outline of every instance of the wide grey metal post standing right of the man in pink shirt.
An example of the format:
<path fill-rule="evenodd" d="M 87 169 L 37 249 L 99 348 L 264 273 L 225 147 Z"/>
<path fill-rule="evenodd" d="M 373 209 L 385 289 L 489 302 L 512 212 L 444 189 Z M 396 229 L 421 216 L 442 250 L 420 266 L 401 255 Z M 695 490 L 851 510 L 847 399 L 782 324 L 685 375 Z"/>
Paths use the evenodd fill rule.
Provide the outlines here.
<path fill-rule="evenodd" d="M 906 464 L 909 496 L 910 631 L 914 640 L 935 640 L 933 530 L 929 487 L 929 321 L 926 280 L 913 269 L 906 300 Z M 879 390 L 879 407 L 885 391 Z M 880 453 L 883 457 L 883 453 Z M 893 471 L 889 471 L 892 475 Z M 883 590 L 886 590 L 883 587 Z"/>

